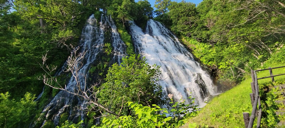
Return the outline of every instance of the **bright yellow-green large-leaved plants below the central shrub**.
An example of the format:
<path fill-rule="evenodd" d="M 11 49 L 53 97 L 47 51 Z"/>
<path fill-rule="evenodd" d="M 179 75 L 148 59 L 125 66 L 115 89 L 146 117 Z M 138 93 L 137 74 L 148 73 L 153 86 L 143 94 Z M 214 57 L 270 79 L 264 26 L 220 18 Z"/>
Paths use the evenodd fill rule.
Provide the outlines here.
<path fill-rule="evenodd" d="M 175 103 L 173 106 L 177 107 L 177 109 L 172 109 L 170 112 L 155 104 L 152 105 L 153 108 L 133 102 L 127 102 L 126 104 L 133 110 L 133 113 L 135 113 L 134 116 L 121 116 L 114 120 L 104 118 L 102 120 L 103 125 L 98 128 L 178 128 L 179 126 L 184 125 L 184 117 L 180 117 L 179 115 L 189 114 L 187 109 L 190 108 L 196 110 L 196 106 L 188 107 L 189 105 L 185 105 L 184 102 Z M 193 111 L 190 114 L 194 115 L 194 113 L 196 112 Z M 170 116 L 166 116 L 166 114 L 170 114 Z"/>

